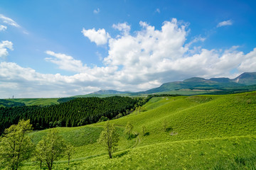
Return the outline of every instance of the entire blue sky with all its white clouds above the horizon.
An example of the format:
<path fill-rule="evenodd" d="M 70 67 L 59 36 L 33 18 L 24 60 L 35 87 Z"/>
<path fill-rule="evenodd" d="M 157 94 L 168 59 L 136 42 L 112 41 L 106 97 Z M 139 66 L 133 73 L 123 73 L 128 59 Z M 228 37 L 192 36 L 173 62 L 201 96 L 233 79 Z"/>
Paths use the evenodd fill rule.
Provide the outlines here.
<path fill-rule="evenodd" d="M 256 1 L 1 0 L 0 98 L 256 72 Z"/>

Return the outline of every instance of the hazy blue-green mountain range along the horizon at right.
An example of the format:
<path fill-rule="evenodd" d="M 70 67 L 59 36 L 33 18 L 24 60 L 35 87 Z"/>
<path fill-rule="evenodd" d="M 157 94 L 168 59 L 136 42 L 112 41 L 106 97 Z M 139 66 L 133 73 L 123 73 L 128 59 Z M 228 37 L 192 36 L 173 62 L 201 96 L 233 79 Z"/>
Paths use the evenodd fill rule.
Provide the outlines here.
<path fill-rule="evenodd" d="M 158 94 L 158 93 L 173 93 L 179 94 L 178 91 L 201 91 L 212 94 L 216 91 L 253 91 L 256 90 L 256 72 L 245 72 L 235 79 L 225 77 L 203 79 L 201 77 L 192 77 L 183 81 L 172 81 L 161 86 L 149 89 L 147 91 L 129 92 L 129 91 L 115 91 L 115 90 L 100 90 L 87 94 L 85 96 L 114 96 L 114 95 L 128 95 L 136 96 L 142 94 Z M 193 93 L 192 93 L 193 94 Z M 196 93 L 197 94 L 197 93 Z"/>

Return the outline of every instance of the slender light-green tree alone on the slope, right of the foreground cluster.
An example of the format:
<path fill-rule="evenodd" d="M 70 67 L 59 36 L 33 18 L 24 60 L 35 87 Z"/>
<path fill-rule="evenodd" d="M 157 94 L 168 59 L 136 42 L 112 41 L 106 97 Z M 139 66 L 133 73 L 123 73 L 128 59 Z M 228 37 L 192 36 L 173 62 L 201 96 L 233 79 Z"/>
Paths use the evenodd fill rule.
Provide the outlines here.
<path fill-rule="evenodd" d="M 102 145 L 106 147 L 110 158 L 112 158 L 112 154 L 117 149 L 118 141 L 119 135 L 117 134 L 117 130 L 114 128 L 114 125 L 110 123 L 110 121 L 107 121 L 97 142 L 102 143 Z"/>

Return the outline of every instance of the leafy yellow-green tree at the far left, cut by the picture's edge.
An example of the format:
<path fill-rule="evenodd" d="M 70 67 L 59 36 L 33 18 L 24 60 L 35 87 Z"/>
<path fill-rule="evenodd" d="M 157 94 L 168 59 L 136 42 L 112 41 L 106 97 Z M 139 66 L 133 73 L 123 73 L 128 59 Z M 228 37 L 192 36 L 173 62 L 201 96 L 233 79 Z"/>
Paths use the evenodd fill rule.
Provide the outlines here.
<path fill-rule="evenodd" d="M 12 170 L 18 169 L 21 163 L 31 156 L 33 142 L 26 135 L 32 130 L 30 120 L 20 120 L 18 125 L 11 125 L 4 130 L 0 142 L 0 163 Z"/>

